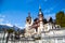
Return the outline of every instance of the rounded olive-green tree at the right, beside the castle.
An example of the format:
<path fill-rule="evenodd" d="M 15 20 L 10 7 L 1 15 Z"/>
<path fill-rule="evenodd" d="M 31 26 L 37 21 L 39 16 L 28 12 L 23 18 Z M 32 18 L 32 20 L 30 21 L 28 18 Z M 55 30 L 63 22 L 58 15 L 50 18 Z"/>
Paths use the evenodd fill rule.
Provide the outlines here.
<path fill-rule="evenodd" d="M 65 23 L 65 15 L 64 15 L 64 12 L 58 12 L 58 13 L 56 13 L 56 24 L 57 25 L 60 25 L 61 27 L 65 27 L 64 25 L 64 23 Z"/>

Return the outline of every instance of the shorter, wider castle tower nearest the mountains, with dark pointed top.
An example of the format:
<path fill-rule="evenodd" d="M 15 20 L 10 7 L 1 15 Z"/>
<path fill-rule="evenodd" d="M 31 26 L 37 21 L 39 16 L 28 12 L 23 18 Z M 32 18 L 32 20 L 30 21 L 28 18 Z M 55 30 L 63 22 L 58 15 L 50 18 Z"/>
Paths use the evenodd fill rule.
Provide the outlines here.
<path fill-rule="evenodd" d="M 31 29 L 31 25 L 32 25 L 32 18 L 30 16 L 30 13 L 28 13 L 28 17 L 26 17 L 26 25 L 25 25 L 25 37 L 30 37 L 31 32 L 34 31 Z"/>

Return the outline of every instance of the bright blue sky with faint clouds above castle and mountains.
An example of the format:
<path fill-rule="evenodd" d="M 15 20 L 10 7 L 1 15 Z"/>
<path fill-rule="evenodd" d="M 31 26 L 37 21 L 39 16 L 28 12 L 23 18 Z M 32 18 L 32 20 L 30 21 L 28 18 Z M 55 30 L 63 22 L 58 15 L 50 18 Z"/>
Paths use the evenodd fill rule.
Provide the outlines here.
<path fill-rule="evenodd" d="M 0 0 L 0 24 L 25 27 L 28 12 L 32 19 L 38 17 L 39 5 L 44 18 L 55 19 L 57 12 L 65 12 L 65 0 Z"/>

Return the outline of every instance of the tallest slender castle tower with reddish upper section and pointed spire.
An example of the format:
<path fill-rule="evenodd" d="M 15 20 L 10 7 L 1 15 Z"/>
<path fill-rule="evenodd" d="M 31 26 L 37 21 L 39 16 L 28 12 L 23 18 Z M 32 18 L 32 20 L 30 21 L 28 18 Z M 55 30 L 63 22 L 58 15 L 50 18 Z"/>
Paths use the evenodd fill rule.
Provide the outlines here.
<path fill-rule="evenodd" d="M 43 13 L 41 11 L 41 8 L 39 6 L 39 14 L 38 14 L 38 18 L 39 18 L 39 27 L 38 27 L 38 33 L 41 33 L 42 29 L 43 29 Z"/>

